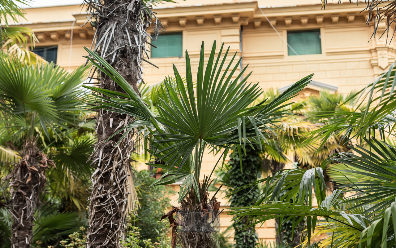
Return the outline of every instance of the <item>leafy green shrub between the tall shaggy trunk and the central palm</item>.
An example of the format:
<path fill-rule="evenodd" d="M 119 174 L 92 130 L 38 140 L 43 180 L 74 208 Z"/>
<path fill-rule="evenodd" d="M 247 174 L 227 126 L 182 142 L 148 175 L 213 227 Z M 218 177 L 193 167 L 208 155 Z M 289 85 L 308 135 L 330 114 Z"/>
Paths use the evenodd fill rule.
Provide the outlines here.
<path fill-rule="evenodd" d="M 141 239 L 158 241 L 162 230 L 168 226 L 166 221 L 160 221 L 169 207 L 170 199 L 167 195 L 173 194 L 166 186 L 150 186 L 155 178 L 150 177 L 150 171 L 143 170 L 135 173 L 135 189 L 141 207 L 137 210 L 135 225 L 139 228 Z"/>

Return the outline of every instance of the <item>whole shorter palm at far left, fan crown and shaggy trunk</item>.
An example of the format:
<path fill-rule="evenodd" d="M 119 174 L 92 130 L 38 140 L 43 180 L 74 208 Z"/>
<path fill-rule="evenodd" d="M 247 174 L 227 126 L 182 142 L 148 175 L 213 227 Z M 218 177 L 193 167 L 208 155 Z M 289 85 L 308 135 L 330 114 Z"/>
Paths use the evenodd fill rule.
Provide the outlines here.
<path fill-rule="evenodd" d="M 22 140 L 21 157 L 11 179 L 12 236 L 14 247 L 30 247 L 33 218 L 40 193 L 46 183 L 46 169 L 55 167 L 39 143 L 44 137 L 62 138 L 76 127 L 87 95 L 80 84 L 86 69 L 67 73 L 53 63 L 25 65 L 2 56 L 0 60 L 2 130 L 14 140 Z M 11 142 L 12 143 L 12 142 Z"/>

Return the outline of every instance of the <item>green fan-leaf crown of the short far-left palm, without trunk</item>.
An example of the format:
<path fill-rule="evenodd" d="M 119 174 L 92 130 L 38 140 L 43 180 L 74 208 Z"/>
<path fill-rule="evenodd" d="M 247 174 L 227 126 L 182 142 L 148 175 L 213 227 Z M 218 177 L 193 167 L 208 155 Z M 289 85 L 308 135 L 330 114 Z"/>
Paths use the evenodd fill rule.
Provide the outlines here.
<path fill-rule="evenodd" d="M 79 86 L 88 67 L 67 73 L 53 63 L 25 66 L 19 61 L 0 60 L 2 118 L 14 134 L 25 137 L 60 137 L 80 121 L 89 96 Z"/>

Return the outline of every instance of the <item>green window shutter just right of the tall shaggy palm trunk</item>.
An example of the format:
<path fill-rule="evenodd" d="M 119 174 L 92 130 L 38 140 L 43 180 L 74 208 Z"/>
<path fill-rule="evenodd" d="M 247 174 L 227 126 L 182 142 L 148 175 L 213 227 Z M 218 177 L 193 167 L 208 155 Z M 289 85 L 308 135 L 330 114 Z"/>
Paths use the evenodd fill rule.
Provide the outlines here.
<path fill-rule="evenodd" d="M 157 40 L 151 42 L 157 48 L 151 47 L 151 58 L 181 57 L 183 56 L 182 33 L 165 33 L 158 35 Z"/>

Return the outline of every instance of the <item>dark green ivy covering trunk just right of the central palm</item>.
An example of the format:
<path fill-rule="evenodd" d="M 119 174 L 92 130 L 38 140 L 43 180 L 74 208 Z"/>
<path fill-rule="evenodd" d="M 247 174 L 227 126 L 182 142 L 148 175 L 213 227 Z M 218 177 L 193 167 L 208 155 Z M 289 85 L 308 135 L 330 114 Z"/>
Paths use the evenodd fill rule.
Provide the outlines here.
<path fill-rule="evenodd" d="M 246 155 L 242 153 L 242 169 L 241 173 L 240 160 L 238 154 L 233 156 L 230 155 L 230 169 L 228 174 L 230 175 L 229 186 L 231 188 L 239 188 L 257 181 L 261 177 L 261 156 L 260 148 L 258 145 L 253 145 L 254 149 L 250 146 L 246 146 Z M 249 187 L 244 190 L 232 194 L 230 199 L 230 206 L 253 206 L 254 201 L 259 194 L 259 188 Z M 242 229 L 247 224 L 246 220 L 235 221 L 232 226 L 235 230 L 234 242 L 235 247 L 238 248 L 252 248 L 257 243 L 257 233 L 254 227 Z M 242 230 L 241 230 L 242 229 Z"/>

